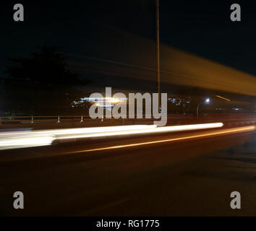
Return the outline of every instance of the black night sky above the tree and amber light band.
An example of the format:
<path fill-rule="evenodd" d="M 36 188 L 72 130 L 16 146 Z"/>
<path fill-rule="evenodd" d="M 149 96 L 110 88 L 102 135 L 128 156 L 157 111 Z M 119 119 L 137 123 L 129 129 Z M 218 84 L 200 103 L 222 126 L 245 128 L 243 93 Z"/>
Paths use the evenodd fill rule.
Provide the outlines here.
<path fill-rule="evenodd" d="M 255 1 L 159 1 L 161 43 L 256 75 Z M 25 7 L 25 22 L 12 18 L 16 3 Z M 229 18 L 234 3 L 242 7 L 242 22 Z M 132 46 L 123 32 L 155 40 L 154 0 L 1 1 L 0 17 L 0 77 L 5 75 L 7 58 L 28 56 L 43 44 L 58 45 L 64 53 L 78 56 L 137 64 L 132 53 L 120 51 L 121 46 Z M 69 61 L 74 64 L 77 60 L 70 56 Z M 86 58 L 82 62 L 85 66 L 90 63 Z M 98 69 L 101 65 L 99 62 Z M 108 76 L 101 81 L 97 76 L 90 74 L 94 86 L 108 83 Z M 133 83 L 119 84 L 116 87 L 131 88 Z"/>

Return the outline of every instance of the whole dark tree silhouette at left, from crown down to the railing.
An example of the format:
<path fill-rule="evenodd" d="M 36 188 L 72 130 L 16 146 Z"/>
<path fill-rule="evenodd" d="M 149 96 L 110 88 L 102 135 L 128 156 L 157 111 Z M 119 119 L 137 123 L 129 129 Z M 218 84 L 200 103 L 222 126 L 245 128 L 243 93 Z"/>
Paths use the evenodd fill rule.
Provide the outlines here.
<path fill-rule="evenodd" d="M 78 74 L 68 70 L 64 56 L 56 47 L 40 47 L 30 58 L 11 58 L 4 79 L 4 109 L 27 114 L 69 114 L 71 103 L 83 92 L 76 86 L 88 84 Z M 3 92 L 2 96 L 3 96 Z"/>

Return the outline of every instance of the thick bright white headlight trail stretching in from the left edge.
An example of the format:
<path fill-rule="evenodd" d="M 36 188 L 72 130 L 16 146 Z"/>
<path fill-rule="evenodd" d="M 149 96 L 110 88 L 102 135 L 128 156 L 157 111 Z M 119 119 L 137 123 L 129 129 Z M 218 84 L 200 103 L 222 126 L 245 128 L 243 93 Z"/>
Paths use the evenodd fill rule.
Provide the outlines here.
<path fill-rule="evenodd" d="M 108 126 L 96 128 L 50 129 L 43 131 L 16 131 L 0 134 L 0 149 L 37 147 L 51 145 L 54 140 L 77 139 L 101 136 L 121 136 L 167 131 L 189 131 L 205 128 L 218 128 L 223 123 L 202 123 L 182 126 L 156 127 L 155 125 Z"/>

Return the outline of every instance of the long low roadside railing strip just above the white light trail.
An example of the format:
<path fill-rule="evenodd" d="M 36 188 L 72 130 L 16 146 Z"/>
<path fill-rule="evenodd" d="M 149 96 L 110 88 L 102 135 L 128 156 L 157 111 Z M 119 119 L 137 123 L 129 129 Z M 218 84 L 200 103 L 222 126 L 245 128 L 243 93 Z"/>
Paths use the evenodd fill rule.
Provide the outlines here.
<path fill-rule="evenodd" d="M 205 123 L 207 121 L 235 123 L 240 121 L 256 122 L 255 115 L 208 115 L 195 118 L 193 115 L 167 115 L 167 125 L 190 123 Z M 132 124 L 152 124 L 155 118 L 102 118 L 92 119 L 89 115 L 27 115 L 27 116 L 0 116 L 0 128 L 51 128 L 51 127 L 80 127 L 80 126 L 116 126 Z"/>

